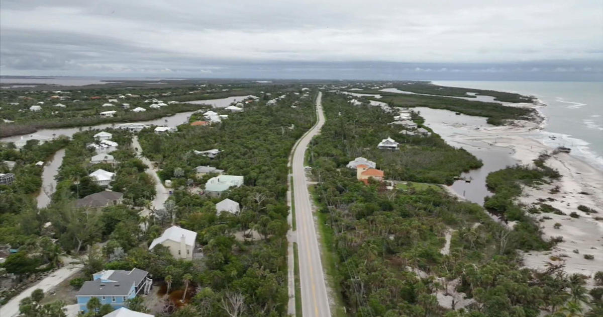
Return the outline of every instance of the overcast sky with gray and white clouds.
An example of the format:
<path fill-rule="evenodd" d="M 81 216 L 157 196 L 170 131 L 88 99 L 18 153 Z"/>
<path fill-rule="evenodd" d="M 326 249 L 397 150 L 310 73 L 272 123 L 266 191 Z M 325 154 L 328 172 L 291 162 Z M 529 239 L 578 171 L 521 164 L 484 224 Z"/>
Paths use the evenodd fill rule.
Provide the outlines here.
<path fill-rule="evenodd" d="M 603 80 L 603 1 L 0 0 L 0 75 Z"/>

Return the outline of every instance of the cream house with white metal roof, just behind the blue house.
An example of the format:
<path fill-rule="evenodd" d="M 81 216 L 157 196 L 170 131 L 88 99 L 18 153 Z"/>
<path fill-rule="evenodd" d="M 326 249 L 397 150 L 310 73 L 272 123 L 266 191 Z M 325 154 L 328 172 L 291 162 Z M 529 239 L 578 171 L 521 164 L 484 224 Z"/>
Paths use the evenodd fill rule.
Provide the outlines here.
<path fill-rule="evenodd" d="M 149 250 L 155 248 L 156 245 L 163 245 L 169 249 L 174 258 L 192 260 L 195 240 L 197 240 L 197 232 L 179 226 L 171 226 L 163 231 L 161 237 L 151 242 Z"/>

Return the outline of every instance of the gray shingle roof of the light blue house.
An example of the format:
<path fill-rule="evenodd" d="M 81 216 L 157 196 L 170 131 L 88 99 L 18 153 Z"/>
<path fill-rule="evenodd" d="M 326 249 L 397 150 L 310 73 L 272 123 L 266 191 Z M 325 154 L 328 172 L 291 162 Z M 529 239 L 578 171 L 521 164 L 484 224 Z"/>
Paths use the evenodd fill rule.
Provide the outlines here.
<path fill-rule="evenodd" d="M 113 274 L 107 277 L 107 280 L 115 282 L 103 282 L 101 278 L 86 281 L 78 290 L 76 296 L 126 296 L 132 285 L 138 286 L 147 275 L 147 271 L 140 269 L 132 269 L 132 271 L 115 270 Z"/>

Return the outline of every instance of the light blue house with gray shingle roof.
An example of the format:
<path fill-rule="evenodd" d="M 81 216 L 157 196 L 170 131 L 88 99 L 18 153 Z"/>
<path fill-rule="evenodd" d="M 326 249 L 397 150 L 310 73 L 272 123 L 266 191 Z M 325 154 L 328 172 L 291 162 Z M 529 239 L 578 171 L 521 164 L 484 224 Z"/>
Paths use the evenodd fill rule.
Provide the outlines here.
<path fill-rule="evenodd" d="M 101 305 L 109 304 L 114 309 L 124 307 L 125 301 L 142 292 L 148 294 L 153 280 L 148 272 L 140 269 L 103 270 L 92 275 L 92 281 L 86 281 L 75 294 L 80 310 L 87 312 L 86 304 L 96 297 Z"/>

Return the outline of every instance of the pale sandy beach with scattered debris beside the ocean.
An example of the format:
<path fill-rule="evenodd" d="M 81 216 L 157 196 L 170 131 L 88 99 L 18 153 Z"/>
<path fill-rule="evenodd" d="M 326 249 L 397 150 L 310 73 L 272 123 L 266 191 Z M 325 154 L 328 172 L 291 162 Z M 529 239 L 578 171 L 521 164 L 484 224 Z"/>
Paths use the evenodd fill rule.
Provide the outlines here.
<path fill-rule="evenodd" d="M 510 105 L 510 104 L 507 104 Z M 532 107 L 537 109 L 541 103 L 514 104 L 514 106 Z M 445 111 L 445 110 L 444 110 Z M 450 118 L 452 120 L 452 118 Z M 426 124 L 430 127 L 429 120 Z M 546 138 L 541 129 L 546 124 L 546 118 L 537 112 L 532 121 L 516 121 L 508 126 L 488 126 L 486 124 L 448 124 L 448 129 L 437 123 L 432 127 L 444 131 L 443 136 L 453 146 L 469 147 L 479 146 L 481 150 L 496 150 L 501 147 L 511 149 L 514 159 L 519 164 L 533 165 L 533 160 L 540 153 L 552 153 L 554 148 L 546 146 L 539 138 Z M 471 152 L 471 151 L 470 151 Z M 539 221 L 543 237 L 563 237 L 563 242 L 558 243 L 551 251 L 528 252 L 525 254 L 525 266 L 532 269 L 543 269 L 547 262 L 564 262 L 567 273 L 580 273 L 592 277 L 596 271 L 603 271 L 603 171 L 592 167 L 581 159 L 567 153 L 557 153 L 546 161 L 546 165 L 557 169 L 561 178 L 551 184 L 540 185 L 537 188 L 525 187 L 519 197 L 519 203 L 526 205 L 526 209 L 535 203 L 546 200 L 563 215 L 554 213 L 535 214 Z M 557 193 L 551 190 L 558 186 Z M 448 188 L 452 190 L 452 188 Z M 461 196 L 461 193 L 456 193 Z M 579 205 L 592 208 L 598 213 L 584 213 L 578 210 Z M 570 217 L 576 212 L 579 218 Z M 558 229 L 555 223 L 561 224 Z M 577 253 L 576 253 L 577 252 Z M 593 260 L 584 258 L 585 254 L 593 255 Z M 592 283 L 592 280 L 591 280 Z"/>

